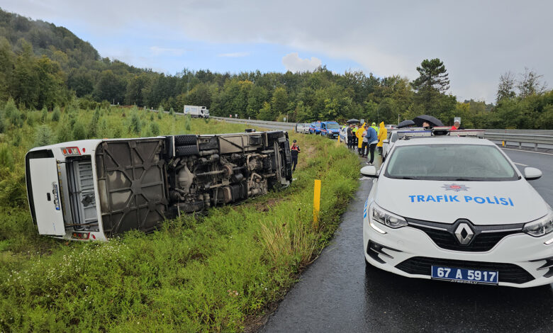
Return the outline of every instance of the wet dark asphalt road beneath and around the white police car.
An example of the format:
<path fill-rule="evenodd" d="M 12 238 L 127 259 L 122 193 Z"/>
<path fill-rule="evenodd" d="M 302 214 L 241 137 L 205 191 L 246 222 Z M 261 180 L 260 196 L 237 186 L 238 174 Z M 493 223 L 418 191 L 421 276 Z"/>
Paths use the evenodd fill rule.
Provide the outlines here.
<path fill-rule="evenodd" d="M 553 155 L 505 150 L 553 204 Z M 362 211 L 372 180 L 359 190 L 333 243 L 302 274 L 259 332 L 553 332 L 553 285 L 473 286 L 404 278 L 364 264 Z"/>

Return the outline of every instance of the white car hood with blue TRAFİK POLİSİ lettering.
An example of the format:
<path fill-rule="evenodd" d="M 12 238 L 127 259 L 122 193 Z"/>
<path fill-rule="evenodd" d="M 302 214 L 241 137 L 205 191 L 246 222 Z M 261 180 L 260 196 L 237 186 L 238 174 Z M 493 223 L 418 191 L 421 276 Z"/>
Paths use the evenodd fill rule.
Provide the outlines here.
<path fill-rule="evenodd" d="M 525 180 L 418 181 L 379 177 L 376 203 L 405 218 L 475 225 L 523 223 L 547 214 L 547 203 Z"/>

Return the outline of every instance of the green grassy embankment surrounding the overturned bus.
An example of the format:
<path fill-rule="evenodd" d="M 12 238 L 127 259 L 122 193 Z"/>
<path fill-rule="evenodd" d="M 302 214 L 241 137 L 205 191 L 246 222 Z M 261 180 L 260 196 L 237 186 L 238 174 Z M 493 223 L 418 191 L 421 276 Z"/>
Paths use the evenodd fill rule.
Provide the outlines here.
<path fill-rule="evenodd" d="M 0 138 L 0 331 L 241 331 L 328 243 L 357 186 L 357 157 L 323 137 L 298 135 L 298 180 L 284 191 L 167 221 L 150 235 L 128 232 L 107 243 L 40 237 L 25 204 L 23 156 L 38 132 L 48 128 L 56 141 L 62 121 L 73 117 L 87 130 L 93 115 L 61 113 L 56 122 L 28 112 L 21 128 L 8 125 Z M 162 135 L 243 130 L 116 109 L 100 111 L 97 123 L 89 136 L 151 135 L 152 123 Z M 323 183 L 318 230 L 313 179 Z"/>

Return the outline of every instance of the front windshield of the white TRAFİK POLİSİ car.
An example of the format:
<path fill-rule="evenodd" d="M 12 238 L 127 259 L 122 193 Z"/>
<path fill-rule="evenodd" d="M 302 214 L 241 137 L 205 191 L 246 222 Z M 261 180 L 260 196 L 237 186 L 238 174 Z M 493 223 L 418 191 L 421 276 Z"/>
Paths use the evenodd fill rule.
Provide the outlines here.
<path fill-rule="evenodd" d="M 396 147 L 384 176 L 394 179 L 512 181 L 513 166 L 499 149 L 486 145 Z"/>

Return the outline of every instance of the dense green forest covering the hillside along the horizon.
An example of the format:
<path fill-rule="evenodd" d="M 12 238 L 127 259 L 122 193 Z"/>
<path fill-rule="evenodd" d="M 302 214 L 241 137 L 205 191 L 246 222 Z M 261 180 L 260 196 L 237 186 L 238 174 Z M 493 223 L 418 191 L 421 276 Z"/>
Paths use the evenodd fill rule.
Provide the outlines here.
<path fill-rule="evenodd" d="M 446 124 L 461 117 L 467 128 L 553 128 L 553 92 L 529 69 L 501 74 L 493 105 L 457 101 L 439 59 L 422 60 L 413 81 L 362 71 L 336 74 L 325 66 L 238 74 L 185 66 L 166 75 L 102 58 L 66 28 L 0 10 L 0 110 L 12 99 L 20 110 L 113 103 L 181 111 L 189 104 L 207 106 L 212 115 L 261 120 L 397 123 L 425 113 Z"/>

